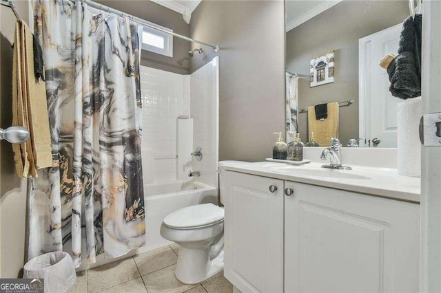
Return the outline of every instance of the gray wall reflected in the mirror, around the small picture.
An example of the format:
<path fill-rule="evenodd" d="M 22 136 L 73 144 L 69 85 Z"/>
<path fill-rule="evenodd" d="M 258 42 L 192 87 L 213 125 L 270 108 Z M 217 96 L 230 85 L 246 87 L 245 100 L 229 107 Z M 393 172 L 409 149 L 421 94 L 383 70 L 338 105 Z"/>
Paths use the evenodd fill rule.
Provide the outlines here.
<path fill-rule="evenodd" d="M 409 4 L 397 1 L 342 1 L 287 32 L 287 70 L 300 74 L 299 109 L 324 102 L 355 100 L 340 108 L 340 140 L 358 138 L 358 39 L 402 22 Z M 329 50 L 336 58 L 335 81 L 309 88 L 309 61 Z M 307 140 L 307 113 L 298 117 Z"/>

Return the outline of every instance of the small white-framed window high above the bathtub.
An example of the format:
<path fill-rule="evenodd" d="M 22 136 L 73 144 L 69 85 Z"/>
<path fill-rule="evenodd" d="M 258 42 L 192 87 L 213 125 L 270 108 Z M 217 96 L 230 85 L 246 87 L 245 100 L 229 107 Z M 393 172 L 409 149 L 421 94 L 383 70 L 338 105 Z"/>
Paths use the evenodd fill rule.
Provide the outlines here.
<path fill-rule="evenodd" d="M 152 23 L 152 25 L 155 25 Z M 173 32 L 169 28 L 155 25 L 158 28 Z M 173 57 L 173 36 L 161 30 L 145 26 L 143 29 L 143 50 Z"/>

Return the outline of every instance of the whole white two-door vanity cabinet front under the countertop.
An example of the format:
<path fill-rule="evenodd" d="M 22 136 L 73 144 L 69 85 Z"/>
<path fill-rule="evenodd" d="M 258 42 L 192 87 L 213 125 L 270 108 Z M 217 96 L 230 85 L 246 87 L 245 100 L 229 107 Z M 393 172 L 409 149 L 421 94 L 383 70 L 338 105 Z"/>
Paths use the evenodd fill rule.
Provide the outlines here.
<path fill-rule="evenodd" d="M 418 292 L 418 204 L 223 172 L 224 273 L 238 290 Z"/>

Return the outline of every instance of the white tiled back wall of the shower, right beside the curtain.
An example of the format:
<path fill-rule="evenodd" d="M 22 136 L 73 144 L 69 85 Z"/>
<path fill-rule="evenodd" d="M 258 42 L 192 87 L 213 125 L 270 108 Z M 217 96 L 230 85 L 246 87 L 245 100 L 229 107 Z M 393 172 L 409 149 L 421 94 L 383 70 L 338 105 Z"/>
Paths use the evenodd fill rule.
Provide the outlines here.
<path fill-rule="evenodd" d="M 176 180 L 176 118 L 189 116 L 190 76 L 141 66 L 144 184 Z"/>

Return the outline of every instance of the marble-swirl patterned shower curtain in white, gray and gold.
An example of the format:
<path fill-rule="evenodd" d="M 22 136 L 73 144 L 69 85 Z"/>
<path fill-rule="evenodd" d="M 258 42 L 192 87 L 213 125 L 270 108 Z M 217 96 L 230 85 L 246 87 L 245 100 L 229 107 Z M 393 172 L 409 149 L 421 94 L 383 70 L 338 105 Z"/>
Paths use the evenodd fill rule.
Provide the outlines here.
<path fill-rule="evenodd" d="M 141 27 L 76 1 L 35 1 L 53 164 L 30 182 L 28 258 L 119 257 L 145 243 Z M 83 257 L 82 257 L 83 256 Z"/>

